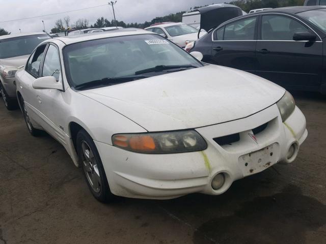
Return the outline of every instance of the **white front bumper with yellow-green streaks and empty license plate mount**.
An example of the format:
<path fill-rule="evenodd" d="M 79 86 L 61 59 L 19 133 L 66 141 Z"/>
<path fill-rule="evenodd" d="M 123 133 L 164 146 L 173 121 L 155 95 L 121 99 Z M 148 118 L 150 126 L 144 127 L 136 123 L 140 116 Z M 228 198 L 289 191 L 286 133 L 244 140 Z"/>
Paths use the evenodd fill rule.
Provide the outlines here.
<path fill-rule="evenodd" d="M 267 127 L 260 127 L 266 123 Z M 258 128 L 254 130 L 256 133 L 253 133 L 254 128 Z M 306 119 L 300 109 L 296 107 L 282 123 L 276 105 L 246 118 L 196 131 L 208 144 L 204 151 L 139 154 L 95 141 L 112 193 L 151 199 L 169 199 L 196 192 L 219 195 L 237 179 L 261 172 L 278 162 L 293 162 L 308 135 Z M 229 135 L 237 135 L 239 140 L 220 145 L 225 141 L 223 138 L 230 139 L 224 137 Z M 293 143 L 295 151 L 288 159 Z M 214 190 L 211 182 L 219 173 L 224 174 L 225 183 Z"/>

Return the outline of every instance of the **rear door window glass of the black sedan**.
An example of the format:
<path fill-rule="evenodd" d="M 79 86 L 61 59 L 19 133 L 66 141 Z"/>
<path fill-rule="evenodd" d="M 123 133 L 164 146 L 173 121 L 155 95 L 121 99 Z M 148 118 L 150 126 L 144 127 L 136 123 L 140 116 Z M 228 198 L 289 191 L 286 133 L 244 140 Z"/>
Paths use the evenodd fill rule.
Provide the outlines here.
<path fill-rule="evenodd" d="M 254 40 L 256 17 L 241 19 L 225 26 L 224 40 Z"/>

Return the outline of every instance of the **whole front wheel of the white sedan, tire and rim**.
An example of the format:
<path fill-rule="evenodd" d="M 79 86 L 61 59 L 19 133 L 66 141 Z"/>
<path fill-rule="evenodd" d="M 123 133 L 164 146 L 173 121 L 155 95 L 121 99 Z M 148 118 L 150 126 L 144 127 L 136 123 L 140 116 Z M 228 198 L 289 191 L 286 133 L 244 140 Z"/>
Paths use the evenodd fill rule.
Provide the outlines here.
<path fill-rule="evenodd" d="M 77 133 L 76 148 L 87 185 L 93 196 L 100 202 L 111 202 L 114 195 L 108 186 L 101 158 L 92 137 L 85 130 Z"/>

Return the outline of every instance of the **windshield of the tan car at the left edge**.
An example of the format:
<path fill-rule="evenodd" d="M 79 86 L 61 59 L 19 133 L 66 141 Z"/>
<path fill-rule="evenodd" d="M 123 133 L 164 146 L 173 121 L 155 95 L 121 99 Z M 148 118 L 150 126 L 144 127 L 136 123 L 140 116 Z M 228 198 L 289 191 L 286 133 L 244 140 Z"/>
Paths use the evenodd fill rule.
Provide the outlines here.
<path fill-rule="evenodd" d="M 13 37 L 0 40 L 0 58 L 29 55 L 34 48 L 50 37 L 46 34 Z"/>

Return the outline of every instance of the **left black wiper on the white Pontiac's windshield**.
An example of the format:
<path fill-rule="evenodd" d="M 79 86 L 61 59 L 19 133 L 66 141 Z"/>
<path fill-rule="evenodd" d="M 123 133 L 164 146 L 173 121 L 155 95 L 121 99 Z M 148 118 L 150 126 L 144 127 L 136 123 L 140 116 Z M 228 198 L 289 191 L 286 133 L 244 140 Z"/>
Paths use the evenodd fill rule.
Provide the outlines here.
<path fill-rule="evenodd" d="M 101 80 L 93 80 L 83 84 L 75 85 L 74 88 L 90 88 L 99 85 L 115 85 L 120 84 L 127 81 L 139 80 L 148 78 L 150 76 L 145 75 L 132 75 L 132 76 L 122 76 L 122 77 L 114 77 L 114 78 L 103 78 Z"/>

